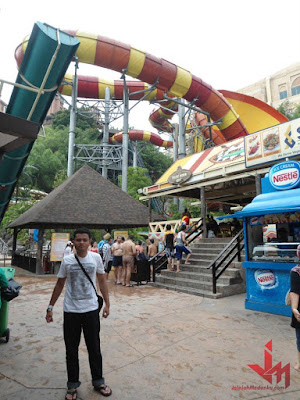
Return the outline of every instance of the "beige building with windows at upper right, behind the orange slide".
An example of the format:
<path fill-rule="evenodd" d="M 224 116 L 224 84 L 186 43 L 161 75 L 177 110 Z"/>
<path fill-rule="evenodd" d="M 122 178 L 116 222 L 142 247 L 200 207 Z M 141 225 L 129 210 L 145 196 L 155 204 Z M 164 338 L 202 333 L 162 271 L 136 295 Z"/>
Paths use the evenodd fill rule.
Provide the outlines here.
<path fill-rule="evenodd" d="M 239 89 L 238 92 L 255 97 L 274 108 L 286 100 L 300 104 L 300 62 Z"/>

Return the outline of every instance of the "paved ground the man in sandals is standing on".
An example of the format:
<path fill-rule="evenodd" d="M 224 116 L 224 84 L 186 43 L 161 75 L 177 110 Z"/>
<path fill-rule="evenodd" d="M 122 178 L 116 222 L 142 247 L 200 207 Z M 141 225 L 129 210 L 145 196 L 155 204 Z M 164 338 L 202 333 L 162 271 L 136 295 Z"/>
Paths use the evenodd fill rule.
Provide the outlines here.
<path fill-rule="evenodd" d="M 64 399 L 65 351 L 62 298 L 54 323 L 45 322 L 56 278 L 30 273 L 17 280 L 21 295 L 10 303 L 9 343 L 0 344 L 1 400 Z M 273 366 L 293 365 L 297 352 L 289 318 L 244 309 L 245 295 L 212 300 L 157 289 L 123 288 L 109 281 L 111 315 L 101 321 L 104 372 L 112 400 L 299 399 L 300 373 L 290 386 L 271 391 L 249 368 L 264 368 L 272 340 Z M 98 399 L 92 390 L 84 341 L 80 347 L 79 399 Z M 285 375 L 277 386 L 283 387 Z M 233 387 L 256 387 L 233 390 Z"/>

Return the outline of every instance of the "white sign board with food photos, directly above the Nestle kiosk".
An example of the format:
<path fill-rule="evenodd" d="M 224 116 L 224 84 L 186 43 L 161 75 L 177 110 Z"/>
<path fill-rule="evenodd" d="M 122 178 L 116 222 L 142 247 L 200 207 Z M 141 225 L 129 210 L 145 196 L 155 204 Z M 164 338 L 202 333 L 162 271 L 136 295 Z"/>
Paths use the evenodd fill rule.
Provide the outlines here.
<path fill-rule="evenodd" d="M 246 167 L 300 156 L 300 118 L 245 136 Z"/>

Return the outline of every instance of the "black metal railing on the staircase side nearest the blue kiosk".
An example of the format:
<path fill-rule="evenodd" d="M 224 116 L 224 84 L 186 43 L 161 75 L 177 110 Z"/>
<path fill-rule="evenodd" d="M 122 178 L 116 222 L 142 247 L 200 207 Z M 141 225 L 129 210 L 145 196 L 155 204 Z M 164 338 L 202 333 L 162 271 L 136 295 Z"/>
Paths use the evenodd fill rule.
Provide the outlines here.
<path fill-rule="evenodd" d="M 207 269 L 212 269 L 213 293 L 217 293 L 217 280 L 226 271 L 232 261 L 237 257 L 241 261 L 241 252 L 244 248 L 243 230 L 235 235 L 221 253 L 210 263 Z M 219 270 L 219 272 L 218 272 Z"/>

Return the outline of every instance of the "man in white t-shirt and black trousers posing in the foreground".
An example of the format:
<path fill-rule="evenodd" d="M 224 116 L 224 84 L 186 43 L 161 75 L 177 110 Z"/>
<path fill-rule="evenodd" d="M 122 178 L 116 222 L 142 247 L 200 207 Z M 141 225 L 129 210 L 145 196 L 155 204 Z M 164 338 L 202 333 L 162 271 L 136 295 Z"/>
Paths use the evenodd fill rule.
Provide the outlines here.
<path fill-rule="evenodd" d="M 97 287 L 96 280 L 98 280 L 105 302 L 102 316 L 107 318 L 110 304 L 103 263 L 99 254 L 88 251 L 90 240 L 91 233 L 88 229 L 79 228 L 74 232 L 73 244 L 78 259 L 93 281 L 95 288 Z M 110 396 L 112 391 L 109 386 L 105 385 L 102 375 L 100 318 L 96 292 L 74 254 L 64 257 L 57 278 L 47 308 L 46 321 L 48 323 L 53 321 L 53 307 L 64 288 L 65 282 L 67 282 L 64 298 L 64 340 L 67 356 L 68 390 L 65 398 L 66 400 L 77 398 L 77 388 L 80 385 L 78 347 L 81 330 L 83 330 L 89 353 L 94 389 L 105 397 Z"/>

